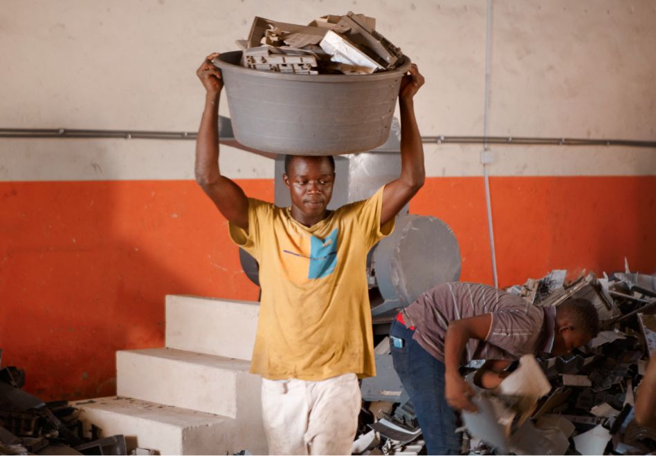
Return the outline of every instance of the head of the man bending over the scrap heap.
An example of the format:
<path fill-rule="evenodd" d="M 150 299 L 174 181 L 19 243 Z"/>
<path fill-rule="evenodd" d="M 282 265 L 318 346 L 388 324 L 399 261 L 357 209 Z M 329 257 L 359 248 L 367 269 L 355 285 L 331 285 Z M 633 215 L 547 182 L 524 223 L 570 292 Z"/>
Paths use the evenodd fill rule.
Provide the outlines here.
<path fill-rule="evenodd" d="M 553 354 L 565 354 L 599 334 L 599 314 L 587 299 L 569 298 L 556 307 Z"/>

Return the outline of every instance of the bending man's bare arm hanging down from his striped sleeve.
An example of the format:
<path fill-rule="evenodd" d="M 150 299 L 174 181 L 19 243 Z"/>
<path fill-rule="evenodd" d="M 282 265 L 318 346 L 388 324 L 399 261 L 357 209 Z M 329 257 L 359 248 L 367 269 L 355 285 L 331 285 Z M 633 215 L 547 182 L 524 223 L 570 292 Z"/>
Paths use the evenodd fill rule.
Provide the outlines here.
<path fill-rule="evenodd" d="M 471 386 L 460 376 L 460 360 L 469 339 L 484 341 L 491 325 L 491 314 L 450 321 L 448 324 L 444 339 L 444 393 L 453 408 L 476 411 L 476 406 L 469 400 L 473 395 Z"/>

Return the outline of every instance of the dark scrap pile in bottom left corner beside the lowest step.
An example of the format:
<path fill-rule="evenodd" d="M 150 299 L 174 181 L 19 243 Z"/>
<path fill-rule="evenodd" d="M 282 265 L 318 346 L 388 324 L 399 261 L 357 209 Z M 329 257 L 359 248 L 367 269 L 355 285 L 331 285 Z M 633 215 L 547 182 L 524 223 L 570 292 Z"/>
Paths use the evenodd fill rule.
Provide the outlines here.
<path fill-rule="evenodd" d="M 1 361 L 2 350 L 0 350 Z M 0 367 L 0 455 L 127 455 L 125 438 L 82 436 L 78 410 L 24 392 L 24 370 Z"/>

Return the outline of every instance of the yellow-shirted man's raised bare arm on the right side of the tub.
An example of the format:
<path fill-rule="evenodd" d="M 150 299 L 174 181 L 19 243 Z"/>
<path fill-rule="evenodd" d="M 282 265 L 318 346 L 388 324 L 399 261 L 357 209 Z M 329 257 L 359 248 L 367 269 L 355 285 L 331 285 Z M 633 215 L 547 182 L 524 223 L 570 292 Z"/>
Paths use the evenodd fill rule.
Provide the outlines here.
<path fill-rule="evenodd" d="M 417 119 L 414 117 L 414 94 L 423 85 L 423 76 L 417 65 L 410 66 L 410 75 L 403 76 L 399 91 L 401 109 L 401 175 L 385 185 L 381 226 L 394 218 L 408 204 L 426 178 L 423 167 L 423 145 Z"/>

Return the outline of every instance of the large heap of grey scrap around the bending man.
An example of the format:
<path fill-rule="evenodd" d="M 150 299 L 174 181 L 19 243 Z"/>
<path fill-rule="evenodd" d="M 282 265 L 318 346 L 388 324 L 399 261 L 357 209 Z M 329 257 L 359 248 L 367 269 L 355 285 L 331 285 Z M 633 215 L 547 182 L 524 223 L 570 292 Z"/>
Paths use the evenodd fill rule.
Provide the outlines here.
<path fill-rule="evenodd" d="M 494 390 L 475 388 L 476 414 L 462 414 L 462 454 L 643 455 L 656 432 L 639 426 L 633 408 L 646 363 L 656 352 L 656 276 L 626 272 L 567 283 L 557 270 L 510 292 L 533 305 L 587 298 L 601 332 L 563 357 L 532 355 L 509 367 Z M 463 368 L 474 383 L 483 360 Z M 362 383 L 361 426 L 354 454 L 425 453 L 412 403 L 392 367 L 389 342 L 376 347 L 377 376 Z"/>

